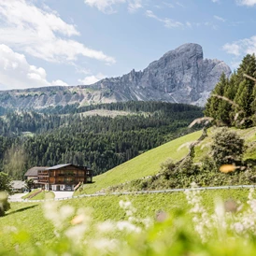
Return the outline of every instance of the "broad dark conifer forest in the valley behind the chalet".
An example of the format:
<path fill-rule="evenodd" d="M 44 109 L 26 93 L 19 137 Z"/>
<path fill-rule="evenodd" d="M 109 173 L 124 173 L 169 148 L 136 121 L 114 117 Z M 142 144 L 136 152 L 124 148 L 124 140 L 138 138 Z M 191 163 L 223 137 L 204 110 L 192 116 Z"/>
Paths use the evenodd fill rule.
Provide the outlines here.
<path fill-rule="evenodd" d="M 83 112 L 92 109 L 125 110 L 131 115 L 88 117 L 80 109 L 65 115 L 8 111 L 0 118 L 0 170 L 22 178 L 32 166 L 72 163 L 90 166 L 97 175 L 191 133 L 188 125 L 203 116 L 200 107 L 155 102 L 100 105 Z"/>

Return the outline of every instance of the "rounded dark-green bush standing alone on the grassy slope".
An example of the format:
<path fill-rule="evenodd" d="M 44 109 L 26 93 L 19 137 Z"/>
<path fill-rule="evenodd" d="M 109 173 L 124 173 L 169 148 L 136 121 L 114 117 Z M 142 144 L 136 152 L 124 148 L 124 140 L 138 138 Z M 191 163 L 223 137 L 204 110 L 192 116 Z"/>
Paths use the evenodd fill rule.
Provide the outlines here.
<path fill-rule="evenodd" d="M 213 136 L 211 149 L 217 167 L 222 164 L 234 164 L 242 160 L 244 139 L 227 128 L 221 128 Z"/>

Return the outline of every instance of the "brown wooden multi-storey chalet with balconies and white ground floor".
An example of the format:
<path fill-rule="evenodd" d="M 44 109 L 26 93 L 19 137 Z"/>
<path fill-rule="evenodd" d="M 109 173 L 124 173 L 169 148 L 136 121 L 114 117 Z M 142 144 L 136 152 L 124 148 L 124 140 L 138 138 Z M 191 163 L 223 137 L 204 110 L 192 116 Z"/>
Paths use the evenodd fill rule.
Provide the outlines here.
<path fill-rule="evenodd" d="M 38 171 L 38 184 L 46 190 L 74 191 L 80 183 L 91 183 L 92 171 L 73 164 L 58 164 Z"/>

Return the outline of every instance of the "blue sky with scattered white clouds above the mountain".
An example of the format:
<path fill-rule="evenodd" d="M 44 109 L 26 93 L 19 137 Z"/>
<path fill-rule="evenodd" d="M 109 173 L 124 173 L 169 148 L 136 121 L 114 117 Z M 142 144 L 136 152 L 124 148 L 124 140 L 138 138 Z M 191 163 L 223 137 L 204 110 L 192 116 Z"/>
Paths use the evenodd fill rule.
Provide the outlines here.
<path fill-rule="evenodd" d="M 119 77 L 185 43 L 235 70 L 256 0 L 0 0 L 0 91 Z"/>

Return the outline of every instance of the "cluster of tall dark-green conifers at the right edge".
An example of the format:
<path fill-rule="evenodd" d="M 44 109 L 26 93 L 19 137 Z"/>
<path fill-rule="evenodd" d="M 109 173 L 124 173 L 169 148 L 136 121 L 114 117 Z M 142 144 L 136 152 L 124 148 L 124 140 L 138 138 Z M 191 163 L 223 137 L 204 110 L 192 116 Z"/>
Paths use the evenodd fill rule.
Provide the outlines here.
<path fill-rule="evenodd" d="M 256 125 L 256 58 L 248 54 L 230 78 L 223 74 L 206 103 L 206 116 L 218 125 Z"/>

